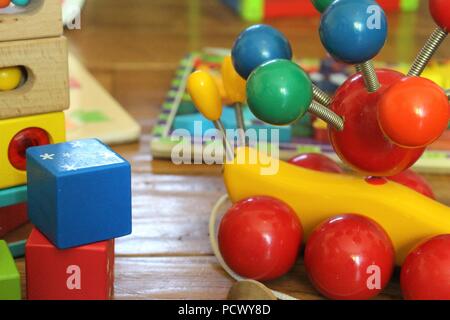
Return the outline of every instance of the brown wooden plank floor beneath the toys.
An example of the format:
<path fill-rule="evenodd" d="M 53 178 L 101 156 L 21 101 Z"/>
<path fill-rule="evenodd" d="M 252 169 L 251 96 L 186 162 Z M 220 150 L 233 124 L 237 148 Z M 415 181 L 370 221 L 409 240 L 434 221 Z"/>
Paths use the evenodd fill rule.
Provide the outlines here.
<path fill-rule="evenodd" d="M 318 22 L 270 21 L 290 38 L 297 57 L 324 56 Z M 389 62 L 411 61 L 434 28 L 426 8 L 392 15 L 389 22 L 389 41 L 380 55 Z M 138 143 L 116 148 L 133 167 L 134 228 L 117 240 L 116 299 L 224 299 L 233 283 L 208 243 L 208 216 L 224 193 L 220 168 L 152 161 L 149 143 L 179 59 L 205 46 L 230 47 L 245 25 L 218 0 L 95 0 L 87 1 L 82 29 L 67 33 L 71 51 L 143 128 Z M 449 42 L 438 57 L 450 57 Z M 446 204 L 449 177 L 427 176 Z M 24 227 L 7 240 L 28 232 Z M 24 261 L 18 265 L 23 275 Z M 300 299 L 322 299 L 301 262 L 269 286 Z M 379 298 L 401 298 L 398 277 Z"/>

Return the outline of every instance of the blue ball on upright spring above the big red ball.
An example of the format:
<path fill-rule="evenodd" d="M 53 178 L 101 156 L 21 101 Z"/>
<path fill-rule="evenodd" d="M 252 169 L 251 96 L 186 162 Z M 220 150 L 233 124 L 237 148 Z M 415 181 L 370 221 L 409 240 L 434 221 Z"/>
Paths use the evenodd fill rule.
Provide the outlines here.
<path fill-rule="evenodd" d="M 360 64 L 383 48 L 386 15 L 374 0 L 336 0 L 323 13 L 319 33 L 336 60 Z"/>

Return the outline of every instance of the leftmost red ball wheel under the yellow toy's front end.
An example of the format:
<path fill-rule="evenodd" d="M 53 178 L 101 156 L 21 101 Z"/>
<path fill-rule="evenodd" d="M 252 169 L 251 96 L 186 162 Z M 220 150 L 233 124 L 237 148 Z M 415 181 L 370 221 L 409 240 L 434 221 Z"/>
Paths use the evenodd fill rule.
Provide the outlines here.
<path fill-rule="evenodd" d="M 294 265 L 303 236 L 294 210 L 270 197 L 237 202 L 219 227 L 219 248 L 237 274 L 259 281 L 272 280 Z"/>

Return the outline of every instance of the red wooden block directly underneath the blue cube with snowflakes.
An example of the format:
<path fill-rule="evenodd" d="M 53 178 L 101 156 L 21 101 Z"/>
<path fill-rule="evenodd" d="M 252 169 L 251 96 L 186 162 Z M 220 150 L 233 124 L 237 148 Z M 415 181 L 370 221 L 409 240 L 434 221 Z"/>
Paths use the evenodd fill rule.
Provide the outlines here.
<path fill-rule="evenodd" d="M 114 240 L 57 249 L 36 228 L 25 247 L 29 300 L 107 300 L 114 288 Z"/>

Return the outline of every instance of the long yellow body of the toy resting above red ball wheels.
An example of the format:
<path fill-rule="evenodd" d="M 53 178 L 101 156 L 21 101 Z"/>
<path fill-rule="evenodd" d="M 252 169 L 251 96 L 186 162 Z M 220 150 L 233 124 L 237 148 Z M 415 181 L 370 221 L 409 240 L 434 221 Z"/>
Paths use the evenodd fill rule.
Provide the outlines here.
<path fill-rule="evenodd" d="M 278 198 L 297 212 L 306 237 L 330 217 L 361 214 L 386 230 L 401 265 L 420 241 L 450 234 L 449 207 L 398 183 L 373 185 L 362 177 L 312 171 L 254 149 L 239 148 L 236 154 L 237 160 L 225 164 L 223 173 L 232 201 L 257 195 Z M 252 157 L 257 158 L 253 164 Z M 277 173 L 270 175 L 274 170 Z"/>

